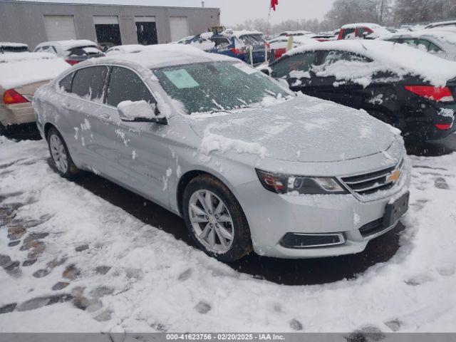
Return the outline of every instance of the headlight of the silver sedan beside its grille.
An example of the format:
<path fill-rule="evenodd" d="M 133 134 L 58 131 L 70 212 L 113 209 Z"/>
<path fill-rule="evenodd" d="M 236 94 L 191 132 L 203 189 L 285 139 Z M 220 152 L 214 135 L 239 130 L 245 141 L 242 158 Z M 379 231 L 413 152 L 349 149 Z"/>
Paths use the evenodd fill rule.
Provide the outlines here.
<path fill-rule="evenodd" d="M 277 194 L 298 192 L 299 194 L 348 194 L 348 191 L 333 177 L 304 177 L 283 175 L 257 169 L 261 185 Z"/>

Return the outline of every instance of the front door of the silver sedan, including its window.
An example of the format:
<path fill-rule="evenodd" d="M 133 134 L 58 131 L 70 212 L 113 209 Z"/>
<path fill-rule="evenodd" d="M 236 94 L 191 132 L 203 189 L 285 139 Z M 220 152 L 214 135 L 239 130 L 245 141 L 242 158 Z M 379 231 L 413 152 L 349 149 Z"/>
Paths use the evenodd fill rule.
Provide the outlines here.
<path fill-rule="evenodd" d="M 170 151 L 162 137 L 167 135 L 170 128 L 159 123 L 120 120 L 117 105 L 125 100 L 156 103 L 137 73 L 128 68 L 113 66 L 103 111 L 112 124 L 107 125 L 102 132 L 106 148 L 115 150 L 115 157 L 110 155 L 110 163 L 113 164 L 111 177 L 154 202 L 168 206 Z"/>

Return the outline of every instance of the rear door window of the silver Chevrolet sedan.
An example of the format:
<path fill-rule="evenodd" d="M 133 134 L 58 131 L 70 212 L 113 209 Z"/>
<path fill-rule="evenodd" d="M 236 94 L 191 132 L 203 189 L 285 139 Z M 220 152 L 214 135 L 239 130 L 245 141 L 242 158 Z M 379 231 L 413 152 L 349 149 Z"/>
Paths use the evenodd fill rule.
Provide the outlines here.
<path fill-rule="evenodd" d="M 88 100 L 103 101 L 106 75 L 108 75 L 107 66 L 90 66 L 76 71 L 71 93 Z"/>

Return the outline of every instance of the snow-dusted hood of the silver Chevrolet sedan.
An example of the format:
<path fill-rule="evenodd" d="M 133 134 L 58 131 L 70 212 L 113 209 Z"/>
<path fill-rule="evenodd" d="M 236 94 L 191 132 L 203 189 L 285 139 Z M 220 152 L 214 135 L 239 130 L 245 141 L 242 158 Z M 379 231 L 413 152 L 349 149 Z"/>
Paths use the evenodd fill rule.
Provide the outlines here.
<path fill-rule="evenodd" d="M 267 108 L 195 118 L 200 150 L 291 162 L 337 162 L 388 150 L 395 129 L 365 111 L 299 95 Z"/>

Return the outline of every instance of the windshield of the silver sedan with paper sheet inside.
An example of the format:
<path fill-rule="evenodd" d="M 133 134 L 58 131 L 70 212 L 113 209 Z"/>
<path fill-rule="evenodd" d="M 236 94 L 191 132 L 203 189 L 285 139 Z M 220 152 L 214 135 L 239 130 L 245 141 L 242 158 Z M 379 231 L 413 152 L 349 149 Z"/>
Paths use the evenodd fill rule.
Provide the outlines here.
<path fill-rule="evenodd" d="M 154 70 L 161 86 L 188 114 L 274 103 L 291 95 L 245 63 L 193 63 Z"/>

